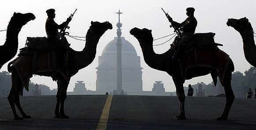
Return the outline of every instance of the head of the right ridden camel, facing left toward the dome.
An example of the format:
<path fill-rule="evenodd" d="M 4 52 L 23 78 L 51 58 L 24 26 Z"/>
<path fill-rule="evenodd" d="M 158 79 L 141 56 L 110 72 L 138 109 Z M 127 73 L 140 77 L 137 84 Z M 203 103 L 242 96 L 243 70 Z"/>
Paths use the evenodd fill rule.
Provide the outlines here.
<path fill-rule="evenodd" d="M 145 43 L 152 43 L 153 44 L 153 37 L 152 37 L 152 30 L 148 30 L 146 28 L 143 28 L 142 30 L 139 28 L 133 28 L 130 30 L 130 34 L 132 34 L 136 39 L 139 41 L 139 44 L 145 44 Z"/>

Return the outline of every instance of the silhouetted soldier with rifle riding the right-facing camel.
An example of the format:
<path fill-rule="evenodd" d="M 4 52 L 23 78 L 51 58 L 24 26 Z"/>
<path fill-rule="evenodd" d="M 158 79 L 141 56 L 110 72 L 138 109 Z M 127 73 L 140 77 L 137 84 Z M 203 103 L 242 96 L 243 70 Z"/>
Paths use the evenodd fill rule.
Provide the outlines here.
<path fill-rule="evenodd" d="M 71 21 L 71 18 L 69 17 L 65 22 L 63 22 L 62 24 L 58 25 L 55 21 L 55 10 L 54 9 L 49 9 L 46 11 L 48 18 L 46 19 L 45 22 L 45 31 L 47 34 L 47 40 L 49 43 L 49 48 L 52 52 L 52 56 L 53 56 L 53 80 L 57 80 L 56 79 L 56 63 L 60 62 L 60 60 L 62 60 L 64 58 L 64 56 L 62 56 L 62 51 L 67 49 L 69 44 L 67 42 L 67 40 L 65 38 L 64 41 L 66 43 L 60 42 L 60 34 L 58 32 L 59 30 L 63 30 L 65 28 L 65 26 L 68 25 L 68 22 Z M 56 62 L 56 60 L 58 59 L 58 62 Z M 59 60 L 60 59 L 60 60 Z M 59 63 L 62 64 L 62 63 Z"/>

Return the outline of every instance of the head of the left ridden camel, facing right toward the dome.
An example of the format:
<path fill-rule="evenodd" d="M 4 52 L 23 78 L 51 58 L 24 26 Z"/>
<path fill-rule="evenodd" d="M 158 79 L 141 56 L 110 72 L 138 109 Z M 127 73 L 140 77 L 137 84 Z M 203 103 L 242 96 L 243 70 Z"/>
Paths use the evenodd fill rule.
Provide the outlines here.
<path fill-rule="evenodd" d="M 90 36 L 93 35 L 93 36 L 101 37 L 105 33 L 106 30 L 113 29 L 112 24 L 108 21 L 106 21 L 106 22 L 91 21 L 90 24 L 91 24 L 90 29 L 89 29 L 90 31 L 88 30 L 88 32 L 90 32 L 90 33 L 87 32 L 87 35 L 86 35 L 87 37 L 89 37 L 88 36 L 89 34 L 90 34 Z"/>

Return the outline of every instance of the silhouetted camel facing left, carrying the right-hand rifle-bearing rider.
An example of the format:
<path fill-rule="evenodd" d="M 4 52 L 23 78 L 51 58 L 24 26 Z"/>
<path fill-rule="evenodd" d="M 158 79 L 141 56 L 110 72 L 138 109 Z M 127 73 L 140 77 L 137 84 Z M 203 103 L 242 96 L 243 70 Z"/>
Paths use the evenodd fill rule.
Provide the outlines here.
<path fill-rule="evenodd" d="M 211 73 L 211 76 L 213 78 L 213 81 L 216 85 L 217 83 L 217 76 L 220 79 L 220 82 L 224 86 L 225 93 L 226 93 L 226 106 L 224 108 L 224 111 L 222 114 L 217 118 L 217 120 L 226 120 L 230 111 L 230 108 L 233 104 L 234 100 L 234 94 L 231 88 L 231 74 L 234 71 L 233 62 L 230 59 L 230 57 L 225 53 L 222 52 L 220 49 L 211 50 L 211 49 L 202 49 L 200 55 L 198 55 L 198 59 L 200 59 L 201 64 L 196 64 L 194 67 L 187 67 L 186 70 L 188 74 L 182 75 L 182 60 L 179 58 L 178 60 L 171 60 L 171 57 L 174 53 L 174 48 L 171 47 L 168 51 L 162 54 L 156 54 L 153 50 L 153 37 L 151 34 L 151 30 L 148 29 L 138 29 L 133 28 L 130 33 L 136 37 L 136 39 L 139 41 L 139 45 L 143 52 L 143 58 L 147 65 L 153 69 L 159 70 L 159 71 L 165 71 L 168 73 L 175 84 L 176 87 L 176 93 L 177 97 L 180 101 L 180 110 L 177 116 L 174 116 L 174 119 L 186 119 L 185 116 L 185 109 L 184 109 L 184 102 L 185 102 L 185 94 L 184 94 L 184 88 L 183 83 L 186 79 L 191 79 L 198 76 L 203 76 Z M 216 52 L 217 51 L 217 52 Z M 197 51 L 198 53 L 200 51 Z M 211 53 L 211 58 L 206 58 L 208 60 L 202 60 L 207 53 Z M 195 54 L 195 53 L 193 53 Z M 218 55 L 217 55 L 218 54 Z M 208 54 L 207 54 L 208 55 Z M 209 55 L 209 56 L 210 56 Z M 180 57 L 180 56 L 179 56 Z M 188 56 L 186 56 L 188 57 Z M 201 58 L 200 58 L 201 57 Z M 222 58 L 222 62 L 219 62 L 218 65 L 222 67 L 226 67 L 224 73 L 219 74 L 220 68 L 213 67 L 216 64 L 216 61 L 214 60 L 214 57 Z M 199 60 L 197 62 L 200 62 Z M 211 64 L 205 63 L 206 61 L 210 61 Z M 225 61 L 225 62 L 224 62 Z M 181 62 L 181 63 L 180 63 Z M 184 71 L 183 70 L 183 71 Z"/>

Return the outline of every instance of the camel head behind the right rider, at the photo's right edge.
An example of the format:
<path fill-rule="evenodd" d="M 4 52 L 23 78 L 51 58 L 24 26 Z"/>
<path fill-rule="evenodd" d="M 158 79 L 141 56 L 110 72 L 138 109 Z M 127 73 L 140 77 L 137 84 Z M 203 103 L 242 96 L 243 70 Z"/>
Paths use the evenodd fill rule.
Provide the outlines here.
<path fill-rule="evenodd" d="M 241 18 L 241 19 L 228 19 L 227 26 L 233 27 L 235 30 L 237 30 L 239 33 L 243 31 L 252 31 L 251 23 L 248 21 L 248 19 Z"/>

